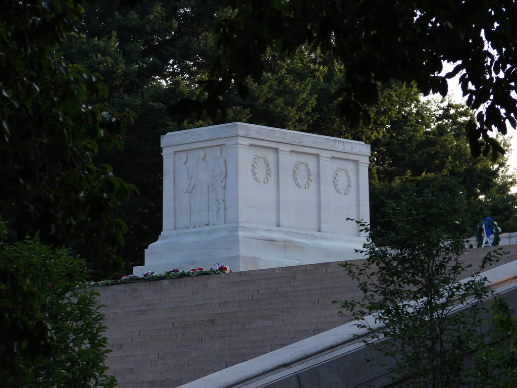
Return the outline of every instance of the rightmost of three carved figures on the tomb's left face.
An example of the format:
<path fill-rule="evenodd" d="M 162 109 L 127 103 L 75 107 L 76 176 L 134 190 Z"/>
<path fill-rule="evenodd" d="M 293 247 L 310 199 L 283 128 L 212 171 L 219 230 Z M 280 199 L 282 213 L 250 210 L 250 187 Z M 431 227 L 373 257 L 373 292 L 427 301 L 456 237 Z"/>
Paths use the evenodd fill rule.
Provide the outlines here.
<path fill-rule="evenodd" d="M 226 160 L 222 156 L 222 148 L 216 148 L 214 165 L 210 168 L 210 218 L 209 223 L 224 223 L 226 202 L 224 188 L 226 187 Z"/>

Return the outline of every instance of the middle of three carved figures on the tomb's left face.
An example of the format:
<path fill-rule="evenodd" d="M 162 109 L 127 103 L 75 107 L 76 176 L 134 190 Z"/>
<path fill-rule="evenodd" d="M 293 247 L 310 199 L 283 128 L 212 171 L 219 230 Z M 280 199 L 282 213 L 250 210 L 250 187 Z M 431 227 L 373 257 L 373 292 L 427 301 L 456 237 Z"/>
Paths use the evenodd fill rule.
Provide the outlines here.
<path fill-rule="evenodd" d="M 208 225 L 209 191 L 210 178 L 208 176 L 206 151 L 201 150 L 197 154 L 197 162 L 194 170 L 194 187 L 192 189 L 191 226 L 194 228 Z"/>

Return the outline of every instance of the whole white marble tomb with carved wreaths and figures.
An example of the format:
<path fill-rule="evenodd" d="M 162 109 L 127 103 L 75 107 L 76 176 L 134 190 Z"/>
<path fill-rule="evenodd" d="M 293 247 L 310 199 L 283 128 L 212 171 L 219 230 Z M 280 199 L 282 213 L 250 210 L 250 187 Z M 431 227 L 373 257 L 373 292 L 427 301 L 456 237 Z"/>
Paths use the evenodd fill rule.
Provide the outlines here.
<path fill-rule="evenodd" d="M 163 231 L 135 275 L 361 258 L 370 146 L 230 123 L 161 137 Z"/>

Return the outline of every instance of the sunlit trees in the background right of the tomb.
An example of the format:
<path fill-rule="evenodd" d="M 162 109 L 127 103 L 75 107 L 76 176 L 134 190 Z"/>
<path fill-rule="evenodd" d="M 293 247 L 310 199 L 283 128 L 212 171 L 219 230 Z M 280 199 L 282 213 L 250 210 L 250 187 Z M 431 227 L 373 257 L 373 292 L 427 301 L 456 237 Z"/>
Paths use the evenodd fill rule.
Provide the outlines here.
<path fill-rule="evenodd" d="M 410 193 L 449 193 L 465 201 L 462 210 L 474 235 L 476 226 L 492 216 L 505 231 L 517 225 L 515 177 L 507 159 L 473 158 L 465 139 L 466 107 L 444 101 L 422 101 L 415 85 L 391 83 L 381 88 L 371 107 L 372 122 L 364 140 L 372 146 L 370 207 L 372 230 L 388 230 L 397 218 L 387 203 L 402 205 Z M 503 140 L 503 144 L 505 141 Z"/>

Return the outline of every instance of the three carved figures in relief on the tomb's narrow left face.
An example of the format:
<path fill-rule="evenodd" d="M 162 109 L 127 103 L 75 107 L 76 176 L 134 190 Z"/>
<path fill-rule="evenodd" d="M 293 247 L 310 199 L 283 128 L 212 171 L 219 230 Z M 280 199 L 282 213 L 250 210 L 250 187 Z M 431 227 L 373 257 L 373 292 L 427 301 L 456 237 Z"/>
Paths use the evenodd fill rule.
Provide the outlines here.
<path fill-rule="evenodd" d="M 194 154 L 192 152 L 192 154 Z M 195 152 L 194 168 L 189 169 L 189 154 L 179 154 L 176 184 L 181 192 L 178 199 L 176 228 L 199 228 L 224 223 L 226 203 L 226 160 L 222 148 L 216 147 L 207 162 L 205 150 Z"/>

